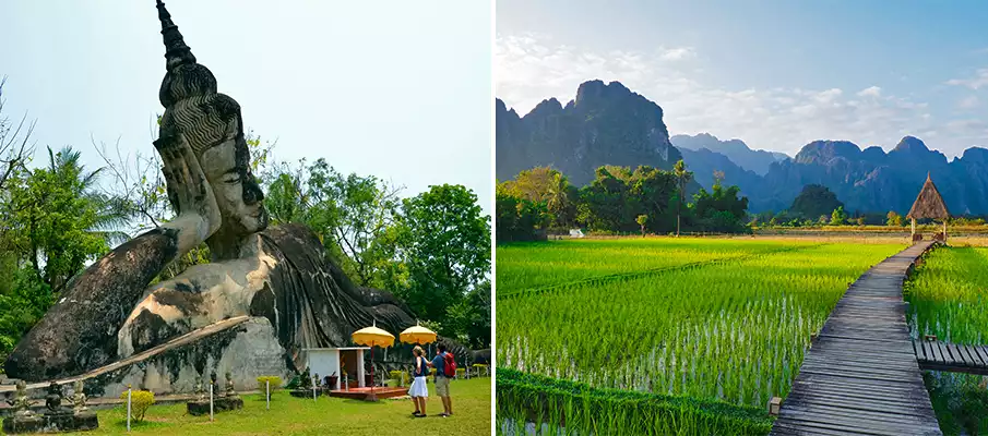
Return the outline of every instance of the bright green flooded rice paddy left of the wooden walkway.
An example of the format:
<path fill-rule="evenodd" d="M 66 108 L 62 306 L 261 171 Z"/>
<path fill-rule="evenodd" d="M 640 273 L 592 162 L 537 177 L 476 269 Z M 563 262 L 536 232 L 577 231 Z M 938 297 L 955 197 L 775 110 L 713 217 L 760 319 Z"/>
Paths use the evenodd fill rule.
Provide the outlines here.
<path fill-rule="evenodd" d="M 498 364 L 595 389 L 715 401 L 740 415 L 765 410 L 788 392 L 810 335 L 847 286 L 903 247 L 688 238 L 499 246 Z M 596 414 L 614 413 L 629 412 Z M 642 420 L 663 422 L 655 434 L 713 429 L 683 416 L 675 420 L 694 425 Z"/>

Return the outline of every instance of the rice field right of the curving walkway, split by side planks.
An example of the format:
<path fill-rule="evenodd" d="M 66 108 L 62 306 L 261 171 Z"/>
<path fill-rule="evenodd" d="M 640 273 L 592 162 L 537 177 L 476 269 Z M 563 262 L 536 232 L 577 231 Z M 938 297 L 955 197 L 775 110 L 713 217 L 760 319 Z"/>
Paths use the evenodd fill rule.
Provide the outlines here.
<path fill-rule="evenodd" d="M 988 249 L 938 249 L 906 282 L 909 326 L 917 337 L 988 344 Z M 947 435 L 988 431 L 988 392 L 980 376 L 927 372 L 930 400 Z"/>

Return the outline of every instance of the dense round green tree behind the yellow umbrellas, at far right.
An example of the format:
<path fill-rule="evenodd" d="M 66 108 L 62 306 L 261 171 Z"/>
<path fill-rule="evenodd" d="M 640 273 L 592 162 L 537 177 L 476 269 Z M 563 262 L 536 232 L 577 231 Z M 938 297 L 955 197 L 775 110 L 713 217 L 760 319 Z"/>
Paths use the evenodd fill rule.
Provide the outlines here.
<path fill-rule="evenodd" d="M 420 318 L 440 320 L 488 280 L 490 217 L 481 215 L 473 191 L 450 184 L 405 198 L 402 210 L 398 255 L 408 287 L 395 292 Z M 455 337 L 455 328 L 442 323 L 447 331 L 440 334 Z"/>

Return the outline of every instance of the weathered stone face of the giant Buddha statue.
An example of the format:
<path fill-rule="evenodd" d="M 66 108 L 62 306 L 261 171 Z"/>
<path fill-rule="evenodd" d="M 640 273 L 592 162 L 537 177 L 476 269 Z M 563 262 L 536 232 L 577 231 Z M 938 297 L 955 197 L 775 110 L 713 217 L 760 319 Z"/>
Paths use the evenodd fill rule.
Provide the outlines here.
<path fill-rule="evenodd" d="M 267 228 L 264 193 L 250 171 L 242 133 L 205 149 L 199 161 L 223 216 L 221 232 L 247 235 Z"/>

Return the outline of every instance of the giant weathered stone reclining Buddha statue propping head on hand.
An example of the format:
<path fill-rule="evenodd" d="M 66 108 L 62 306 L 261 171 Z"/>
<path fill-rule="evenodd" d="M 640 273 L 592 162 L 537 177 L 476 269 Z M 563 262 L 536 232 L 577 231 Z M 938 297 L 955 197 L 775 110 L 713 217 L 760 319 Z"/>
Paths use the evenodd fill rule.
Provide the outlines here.
<path fill-rule="evenodd" d="M 74 277 L 17 343 L 7 373 L 27 380 L 79 375 L 245 315 L 270 322 L 285 366 L 298 371 L 306 348 L 344 347 L 372 323 L 395 335 L 415 325 L 391 293 L 355 286 L 307 227 L 269 227 L 240 106 L 217 93 L 160 0 L 157 8 L 167 71 L 154 145 L 176 217 Z M 203 242 L 211 263 L 151 284 Z"/>

